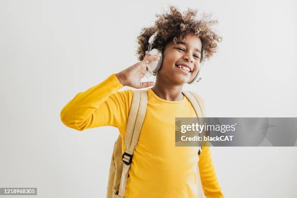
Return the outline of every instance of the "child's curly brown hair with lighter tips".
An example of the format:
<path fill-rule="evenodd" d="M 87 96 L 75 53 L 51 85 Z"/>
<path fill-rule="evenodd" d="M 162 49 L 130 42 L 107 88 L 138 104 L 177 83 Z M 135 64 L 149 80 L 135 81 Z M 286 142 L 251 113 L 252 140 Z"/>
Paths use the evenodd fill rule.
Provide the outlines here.
<path fill-rule="evenodd" d="M 210 15 L 202 14 L 197 18 L 197 11 L 188 8 L 183 15 L 175 6 L 170 6 L 170 12 L 156 14 L 157 20 L 152 27 L 143 27 L 141 33 L 137 36 L 137 58 L 139 61 L 145 57 L 145 51 L 148 50 L 149 37 L 158 31 L 153 48 L 163 51 L 166 44 L 173 41 L 184 41 L 190 33 L 197 35 L 202 43 L 201 59 L 209 59 L 217 49 L 217 43 L 222 40 L 220 36 L 211 31 L 211 26 L 217 23 L 217 20 L 210 20 Z"/>

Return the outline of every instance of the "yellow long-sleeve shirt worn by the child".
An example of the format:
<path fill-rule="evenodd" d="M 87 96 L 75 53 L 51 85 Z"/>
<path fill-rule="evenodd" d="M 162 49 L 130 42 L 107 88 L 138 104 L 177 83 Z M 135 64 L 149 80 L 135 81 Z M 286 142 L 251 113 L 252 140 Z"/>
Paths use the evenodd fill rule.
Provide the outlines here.
<path fill-rule="evenodd" d="M 77 94 L 61 111 L 62 122 L 83 131 L 99 126 L 115 126 L 125 137 L 131 89 L 115 74 L 105 81 Z M 175 147 L 175 117 L 195 117 L 191 103 L 159 98 L 148 89 L 148 108 L 133 153 L 127 181 L 126 198 L 197 198 L 199 170 L 204 195 L 223 198 L 216 178 L 209 147 Z M 122 148 L 123 150 L 124 148 Z"/>

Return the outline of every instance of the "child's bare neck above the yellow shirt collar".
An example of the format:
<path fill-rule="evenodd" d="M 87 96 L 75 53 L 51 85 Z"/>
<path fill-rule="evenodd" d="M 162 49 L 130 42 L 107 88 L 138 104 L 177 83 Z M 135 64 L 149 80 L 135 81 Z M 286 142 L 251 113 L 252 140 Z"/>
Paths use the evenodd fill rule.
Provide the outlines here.
<path fill-rule="evenodd" d="M 156 81 L 151 90 L 161 99 L 179 101 L 183 99 L 182 85 L 168 85 L 167 83 Z"/>

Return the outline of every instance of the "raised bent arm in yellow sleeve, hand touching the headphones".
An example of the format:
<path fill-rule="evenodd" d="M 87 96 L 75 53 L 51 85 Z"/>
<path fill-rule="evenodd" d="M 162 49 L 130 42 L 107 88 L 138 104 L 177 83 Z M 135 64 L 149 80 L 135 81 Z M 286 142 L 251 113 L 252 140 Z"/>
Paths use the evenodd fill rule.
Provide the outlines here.
<path fill-rule="evenodd" d="M 99 126 L 124 126 L 128 119 L 133 92 L 116 91 L 123 86 L 137 89 L 152 86 L 154 82 L 141 82 L 141 79 L 146 74 L 148 63 L 159 60 L 160 55 L 149 56 L 146 52 L 144 60 L 77 94 L 62 109 L 62 122 L 79 131 Z"/>

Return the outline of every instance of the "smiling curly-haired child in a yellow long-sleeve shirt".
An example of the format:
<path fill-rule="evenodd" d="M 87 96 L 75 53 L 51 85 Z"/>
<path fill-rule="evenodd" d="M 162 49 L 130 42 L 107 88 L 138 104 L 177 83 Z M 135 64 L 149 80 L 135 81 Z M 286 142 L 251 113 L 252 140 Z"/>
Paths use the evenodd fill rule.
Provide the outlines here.
<path fill-rule="evenodd" d="M 209 147 L 203 147 L 199 156 L 196 147 L 175 147 L 175 117 L 196 117 L 181 90 L 194 79 L 201 62 L 216 51 L 220 37 L 210 30 L 215 21 L 197 20 L 196 11 L 190 9 L 182 15 L 173 6 L 169 13 L 156 16 L 155 25 L 144 28 L 138 36 L 141 61 L 77 94 L 61 111 L 61 119 L 80 131 L 115 126 L 124 140 L 133 91 L 118 90 L 123 86 L 153 86 L 148 88 L 148 108 L 133 153 L 125 198 L 196 198 L 198 167 L 204 195 L 223 198 Z M 162 51 L 162 66 L 153 73 L 155 83 L 141 82 L 148 63 L 161 56 L 150 56 L 146 51 L 148 38 L 156 31 L 153 48 Z"/>

